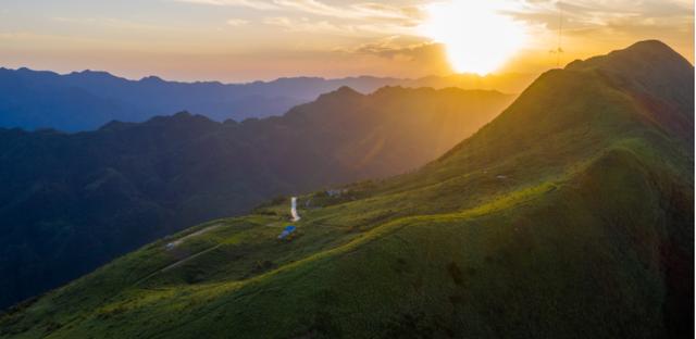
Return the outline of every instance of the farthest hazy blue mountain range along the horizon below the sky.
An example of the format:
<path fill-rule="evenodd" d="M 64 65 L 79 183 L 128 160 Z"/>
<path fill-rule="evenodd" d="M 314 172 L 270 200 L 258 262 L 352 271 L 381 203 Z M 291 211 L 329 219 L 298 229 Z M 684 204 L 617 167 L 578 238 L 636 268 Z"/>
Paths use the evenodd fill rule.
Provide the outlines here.
<path fill-rule="evenodd" d="M 60 75 L 28 68 L 0 68 L 0 127 L 92 130 L 111 121 L 144 122 L 181 111 L 217 122 L 240 122 L 282 115 L 341 86 L 364 93 L 384 86 L 497 89 L 517 93 L 533 78 L 522 74 L 421 79 L 296 77 L 269 83 L 221 84 L 165 81 L 156 76 L 129 80 L 91 71 Z"/>

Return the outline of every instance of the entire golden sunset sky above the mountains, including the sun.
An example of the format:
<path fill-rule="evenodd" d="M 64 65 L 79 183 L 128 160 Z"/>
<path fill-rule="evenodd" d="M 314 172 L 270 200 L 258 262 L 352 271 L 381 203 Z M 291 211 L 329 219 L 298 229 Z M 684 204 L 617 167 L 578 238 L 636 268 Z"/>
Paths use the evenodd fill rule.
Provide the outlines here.
<path fill-rule="evenodd" d="M 645 39 L 693 63 L 693 1 L 0 0 L 0 66 L 128 78 L 540 73 Z"/>

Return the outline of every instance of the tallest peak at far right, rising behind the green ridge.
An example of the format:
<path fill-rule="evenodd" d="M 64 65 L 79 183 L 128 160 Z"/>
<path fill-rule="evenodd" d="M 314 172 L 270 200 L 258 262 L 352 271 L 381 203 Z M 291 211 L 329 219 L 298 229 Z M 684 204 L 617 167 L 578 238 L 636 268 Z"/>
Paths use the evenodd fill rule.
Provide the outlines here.
<path fill-rule="evenodd" d="M 686 131 L 683 126 L 691 126 L 693 130 L 693 86 L 694 68 L 685 59 L 660 41 L 642 41 L 606 55 L 575 61 L 564 70 L 546 72 L 490 124 L 495 127 L 488 127 L 487 133 L 495 128 L 501 136 L 519 133 L 519 138 L 532 140 L 532 135 L 552 135 L 592 125 L 596 112 L 608 120 L 624 120 L 629 116 L 624 113 L 630 112 L 649 114 L 651 123 L 660 129 L 692 139 L 693 131 Z M 627 100 L 633 99 L 642 110 L 611 101 L 610 93 L 614 91 L 622 92 Z M 611 104 L 620 109 L 589 112 L 593 105 Z M 549 109 L 538 110 L 538 106 Z"/>

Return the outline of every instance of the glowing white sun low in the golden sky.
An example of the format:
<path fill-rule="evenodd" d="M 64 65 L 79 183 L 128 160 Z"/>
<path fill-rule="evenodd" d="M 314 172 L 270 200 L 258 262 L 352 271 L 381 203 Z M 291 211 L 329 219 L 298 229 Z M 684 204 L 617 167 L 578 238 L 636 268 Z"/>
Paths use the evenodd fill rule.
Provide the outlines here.
<path fill-rule="evenodd" d="M 504 14 L 502 1 L 450 0 L 426 7 L 424 36 L 444 43 L 452 68 L 486 75 L 524 46 L 525 27 Z"/>

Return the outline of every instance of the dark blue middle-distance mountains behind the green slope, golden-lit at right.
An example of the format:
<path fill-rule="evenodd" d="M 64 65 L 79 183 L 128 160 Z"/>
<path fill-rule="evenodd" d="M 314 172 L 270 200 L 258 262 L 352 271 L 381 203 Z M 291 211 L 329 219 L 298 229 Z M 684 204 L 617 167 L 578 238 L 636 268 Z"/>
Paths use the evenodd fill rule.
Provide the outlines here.
<path fill-rule="evenodd" d="M 343 87 L 244 123 L 181 113 L 78 134 L 0 130 L 0 306 L 276 194 L 413 170 L 512 99 Z"/>

